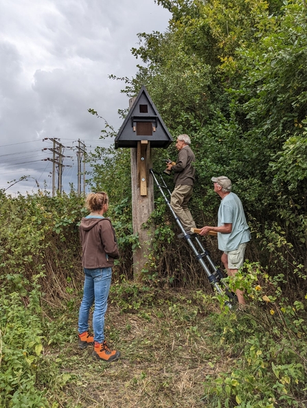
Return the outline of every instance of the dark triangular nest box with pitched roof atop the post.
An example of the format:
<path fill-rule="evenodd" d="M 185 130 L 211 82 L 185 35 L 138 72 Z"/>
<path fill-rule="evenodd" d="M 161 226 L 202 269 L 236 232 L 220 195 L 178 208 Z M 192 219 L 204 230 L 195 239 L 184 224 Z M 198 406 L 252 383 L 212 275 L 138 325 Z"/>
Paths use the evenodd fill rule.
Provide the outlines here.
<path fill-rule="evenodd" d="M 141 140 L 150 141 L 150 147 L 155 148 L 167 148 L 173 141 L 145 87 L 141 87 L 115 137 L 115 149 L 137 147 Z"/>

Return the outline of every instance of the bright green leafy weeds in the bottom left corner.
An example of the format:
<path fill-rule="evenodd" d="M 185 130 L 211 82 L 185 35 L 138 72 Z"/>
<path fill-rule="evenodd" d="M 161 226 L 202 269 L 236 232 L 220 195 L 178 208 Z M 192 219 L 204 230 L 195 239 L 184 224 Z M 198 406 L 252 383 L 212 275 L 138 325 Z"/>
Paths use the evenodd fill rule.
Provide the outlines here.
<path fill-rule="evenodd" d="M 11 291 L 1 278 L 0 290 L 0 400 L 1 407 L 49 407 L 43 389 L 37 387 L 38 366 L 43 358 L 43 328 L 38 277 Z M 25 296 L 24 287 L 29 290 Z"/>

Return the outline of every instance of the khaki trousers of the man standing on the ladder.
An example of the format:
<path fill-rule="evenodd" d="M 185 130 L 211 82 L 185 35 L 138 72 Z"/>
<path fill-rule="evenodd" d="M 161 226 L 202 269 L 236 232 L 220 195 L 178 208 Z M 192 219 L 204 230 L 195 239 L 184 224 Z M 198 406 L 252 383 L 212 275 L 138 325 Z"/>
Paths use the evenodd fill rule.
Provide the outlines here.
<path fill-rule="evenodd" d="M 179 184 L 176 185 L 170 196 L 170 206 L 180 218 L 185 231 L 190 231 L 191 228 L 196 228 L 190 209 L 187 208 L 187 203 L 190 201 L 192 193 L 192 185 Z"/>

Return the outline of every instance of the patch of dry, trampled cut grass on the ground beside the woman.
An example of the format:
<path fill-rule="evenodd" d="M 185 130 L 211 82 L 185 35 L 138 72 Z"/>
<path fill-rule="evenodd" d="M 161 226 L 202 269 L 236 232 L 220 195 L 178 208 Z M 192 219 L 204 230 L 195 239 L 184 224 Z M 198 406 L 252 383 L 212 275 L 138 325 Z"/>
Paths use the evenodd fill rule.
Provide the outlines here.
<path fill-rule="evenodd" d="M 217 305 L 191 306 L 188 299 L 187 292 L 173 293 L 171 301 L 157 299 L 159 307 L 137 314 L 121 313 L 111 304 L 106 338 L 122 352 L 121 359 L 95 361 L 90 346 L 81 351 L 68 343 L 57 355 L 62 374 L 70 377 L 56 398 L 58 407 L 205 408 L 207 374 L 227 370 L 231 361 L 219 354 L 207 332 L 206 319 L 218 312 Z"/>

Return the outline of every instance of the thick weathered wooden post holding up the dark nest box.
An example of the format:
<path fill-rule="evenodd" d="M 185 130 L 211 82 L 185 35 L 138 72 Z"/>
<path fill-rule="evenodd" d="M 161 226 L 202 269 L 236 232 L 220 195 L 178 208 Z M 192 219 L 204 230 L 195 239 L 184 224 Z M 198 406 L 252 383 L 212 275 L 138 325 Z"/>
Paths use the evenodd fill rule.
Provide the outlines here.
<path fill-rule="evenodd" d="M 131 107 L 133 101 L 129 101 Z M 143 143 L 142 143 L 143 142 Z M 148 269 L 148 254 L 151 248 L 151 234 L 153 229 L 143 228 L 154 209 L 154 186 L 149 168 L 152 167 L 150 141 L 138 142 L 137 148 L 131 148 L 131 186 L 133 234 L 138 234 L 140 248 L 133 253 L 133 276 L 135 280 L 141 278 L 141 270 Z"/>

